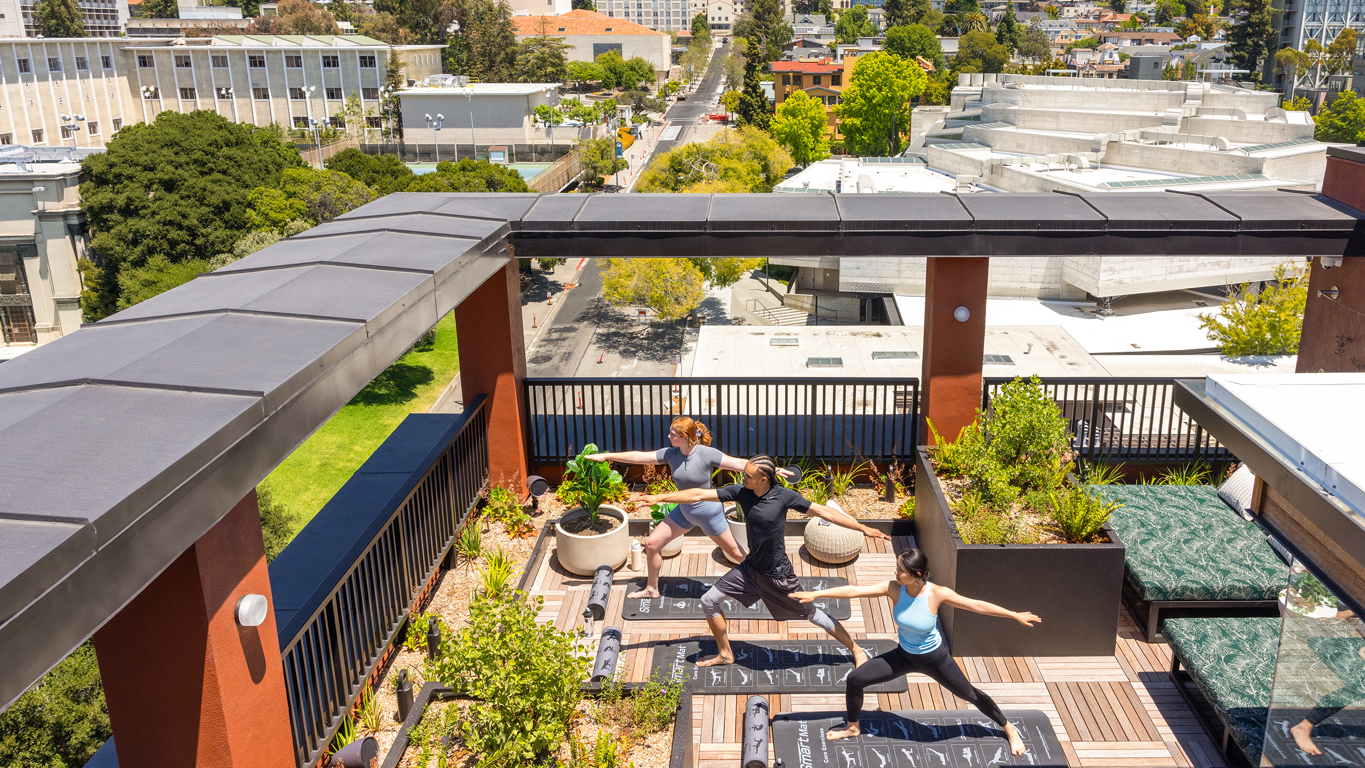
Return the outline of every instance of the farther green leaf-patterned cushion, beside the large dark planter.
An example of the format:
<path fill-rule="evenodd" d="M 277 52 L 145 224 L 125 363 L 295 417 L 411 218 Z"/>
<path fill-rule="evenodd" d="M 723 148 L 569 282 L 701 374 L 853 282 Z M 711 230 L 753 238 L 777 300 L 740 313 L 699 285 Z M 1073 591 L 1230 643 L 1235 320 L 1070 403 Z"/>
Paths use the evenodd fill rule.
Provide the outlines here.
<path fill-rule="evenodd" d="M 1289 580 L 1265 532 L 1237 517 L 1212 486 L 1097 486 L 1123 506 L 1110 525 L 1144 600 L 1275 600 Z"/>

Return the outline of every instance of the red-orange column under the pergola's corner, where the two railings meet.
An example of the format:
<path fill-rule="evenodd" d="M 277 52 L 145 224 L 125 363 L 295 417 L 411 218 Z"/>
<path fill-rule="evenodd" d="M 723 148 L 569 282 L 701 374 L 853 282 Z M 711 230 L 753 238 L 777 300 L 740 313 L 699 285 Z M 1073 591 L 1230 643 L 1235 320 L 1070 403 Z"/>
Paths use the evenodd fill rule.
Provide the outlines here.
<path fill-rule="evenodd" d="M 489 476 L 516 480 L 526 492 L 526 337 L 516 259 L 483 281 L 455 308 L 460 341 L 460 390 L 470 402 L 489 396 Z"/>

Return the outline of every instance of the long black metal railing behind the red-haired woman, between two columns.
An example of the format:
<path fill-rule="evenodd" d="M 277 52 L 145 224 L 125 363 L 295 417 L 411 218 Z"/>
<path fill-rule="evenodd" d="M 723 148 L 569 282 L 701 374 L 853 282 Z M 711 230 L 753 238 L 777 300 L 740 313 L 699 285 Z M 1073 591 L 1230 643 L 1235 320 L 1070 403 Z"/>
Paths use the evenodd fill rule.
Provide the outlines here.
<path fill-rule="evenodd" d="M 919 379 L 526 379 L 531 456 L 553 464 L 667 446 L 669 416 L 698 416 L 734 456 L 890 460 L 916 445 Z"/>

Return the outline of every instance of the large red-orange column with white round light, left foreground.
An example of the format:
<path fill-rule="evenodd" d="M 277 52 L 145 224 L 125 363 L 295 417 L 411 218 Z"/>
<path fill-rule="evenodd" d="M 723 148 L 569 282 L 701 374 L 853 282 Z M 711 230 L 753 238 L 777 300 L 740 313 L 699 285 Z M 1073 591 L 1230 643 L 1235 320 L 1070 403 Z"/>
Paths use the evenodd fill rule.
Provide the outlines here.
<path fill-rule="evenodd" d="M 238 600 L 265 595 L 265 623 Z M 255 491 L 94 634 L 120 765 L 292 768 Z"/>

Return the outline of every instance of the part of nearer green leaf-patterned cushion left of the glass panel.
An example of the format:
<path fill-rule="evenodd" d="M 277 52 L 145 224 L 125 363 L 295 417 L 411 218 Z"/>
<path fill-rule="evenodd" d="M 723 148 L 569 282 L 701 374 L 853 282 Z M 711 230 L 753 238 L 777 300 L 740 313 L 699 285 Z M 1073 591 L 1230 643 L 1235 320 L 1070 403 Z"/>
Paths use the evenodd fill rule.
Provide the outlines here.
<path fill-rule="evenodd" d="M 1260 765 L 1280 619 L 1166 619 L 1162 632 L 1233 741 Z"/>

